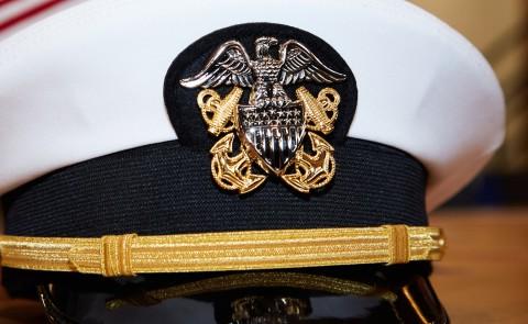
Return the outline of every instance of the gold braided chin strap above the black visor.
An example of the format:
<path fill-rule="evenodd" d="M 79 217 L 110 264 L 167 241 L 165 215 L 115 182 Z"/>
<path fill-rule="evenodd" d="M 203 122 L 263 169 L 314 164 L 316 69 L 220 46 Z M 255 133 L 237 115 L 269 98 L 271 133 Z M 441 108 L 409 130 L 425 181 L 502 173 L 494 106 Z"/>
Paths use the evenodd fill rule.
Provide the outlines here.
<path fill-rule="evenodd" d="M 439 260 L 436 227 L 273 230 L 97 238 L 0 236 L 3 267 L 106 277 Z"/>

